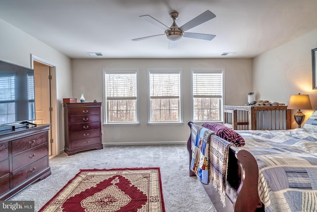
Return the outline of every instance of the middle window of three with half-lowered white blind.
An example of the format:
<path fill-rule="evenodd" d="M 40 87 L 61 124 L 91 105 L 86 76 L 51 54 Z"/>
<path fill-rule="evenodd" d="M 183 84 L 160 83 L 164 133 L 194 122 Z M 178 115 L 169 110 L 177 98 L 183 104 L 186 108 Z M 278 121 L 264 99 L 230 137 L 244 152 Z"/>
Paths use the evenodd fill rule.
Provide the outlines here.
<path fill-rule="evenodd" d="M 149 122 L 181 122 L 180 70 L 149 70 Z"/>

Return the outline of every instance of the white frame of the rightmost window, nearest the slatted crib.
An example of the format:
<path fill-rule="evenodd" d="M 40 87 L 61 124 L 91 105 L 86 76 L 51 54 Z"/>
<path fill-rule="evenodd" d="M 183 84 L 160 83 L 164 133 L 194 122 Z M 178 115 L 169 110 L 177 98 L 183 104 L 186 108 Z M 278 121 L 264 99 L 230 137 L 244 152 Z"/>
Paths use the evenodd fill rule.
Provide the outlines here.
<path fill-rule="evenodd" d="M 220 105 L 219 105 L 219 119 L 220 120 L 203 120 L 203 121 L 195 121 L 194 116 L 194 93 L 193 93 L 193 74 L 194 72 L 221 72 L 222 75 L 222 96 L 220 100 Z M 205 123 L 205 122 L 218 122 L 222 123 L 223 122 L 223 105 L 224 105 L 224 87 L 225 87 L 225 70 L 224 69 L 191 69 L 191 121 L 194 123 Z"/>

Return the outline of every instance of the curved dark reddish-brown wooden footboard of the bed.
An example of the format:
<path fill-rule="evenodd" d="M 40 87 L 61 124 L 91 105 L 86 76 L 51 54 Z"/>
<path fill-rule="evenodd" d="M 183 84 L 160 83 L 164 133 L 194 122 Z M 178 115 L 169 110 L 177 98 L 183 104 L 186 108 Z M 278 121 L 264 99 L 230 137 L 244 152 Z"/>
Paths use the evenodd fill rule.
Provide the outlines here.
<path fill-rule="evenodd" d="M 188 122 L 191 128 L 192 122 Z M 189 176 L 196 176 L 190 170 L 192 160 L 191 137 L 187 141 L 187 150 L 189 152 Z M 227 187 L 225 208 L 220 201 L 220 195 L 212 183 L 203 185 L 214 207 L 221 212 L 262 212 L 263 204 L 260 201 L 258 193 L 259 169 L 254 156 L 247 150 L 238 149 L 230 146 L 228 170 L 227 170 Z"/>

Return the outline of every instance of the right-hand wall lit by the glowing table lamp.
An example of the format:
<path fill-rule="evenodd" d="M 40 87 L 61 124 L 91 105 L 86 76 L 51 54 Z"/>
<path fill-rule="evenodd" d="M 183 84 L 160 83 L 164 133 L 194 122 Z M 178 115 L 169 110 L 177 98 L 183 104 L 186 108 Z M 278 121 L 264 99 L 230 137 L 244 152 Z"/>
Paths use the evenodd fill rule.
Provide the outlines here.
<path fill-rule="evenodd" d="M 303 110 L 307 119 L 317 109 L 317 90 L 312 89 L 311 50 L 314 48 L 317 48 L 317 30 L 254 58 L 253 90 L 257 100 L 287 105 L 290 95 L 309 94 L 313 110 Z M 292 128 L 296 128 L 292 121 Z"/>

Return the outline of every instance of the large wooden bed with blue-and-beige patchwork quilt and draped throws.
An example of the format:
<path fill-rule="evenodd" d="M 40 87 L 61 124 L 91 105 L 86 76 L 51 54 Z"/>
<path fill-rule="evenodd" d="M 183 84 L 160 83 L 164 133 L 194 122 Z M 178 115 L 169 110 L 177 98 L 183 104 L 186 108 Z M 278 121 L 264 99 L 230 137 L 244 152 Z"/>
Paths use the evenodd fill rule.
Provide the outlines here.
<path fill-rule="evenodd" d="M 218 212 L 317 211 L 317 111 L 303 129 L 234 131 L 216 123 L 204 123 L 203 127 L 192 122 L 188 125 L 191 127 L 187 142 L 189 175 L 205 180 L 202 185 Z M 207 129 L 205 134 L 210 132 L 207 156 L 206 152 L 203 156 L 194 154 L 195 148 L 206 148 L 198 146 L 196 141 L 203 138 L 198 133 L 202 129 Z M 226 137 L 219 131 L 230 131 L 234 136 Z M 222 173 L 225 176 L 220 180 L 213 178 L 214 170 L 221 172 L 221 166 L 217 167 L 219 164 L 213 158 L 219 144 L 215 147 L 214 143 L 225 144 L 227 148 L 225 173 Z M 204 157 L 209 160 L 209 182 L 206 170 L 193 169 L 193 164 Z M 200 161 L 197 163 L 200 167 Z M 222 184 L 219 186 L 211 179 Z"/>

